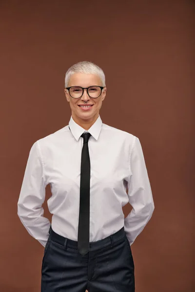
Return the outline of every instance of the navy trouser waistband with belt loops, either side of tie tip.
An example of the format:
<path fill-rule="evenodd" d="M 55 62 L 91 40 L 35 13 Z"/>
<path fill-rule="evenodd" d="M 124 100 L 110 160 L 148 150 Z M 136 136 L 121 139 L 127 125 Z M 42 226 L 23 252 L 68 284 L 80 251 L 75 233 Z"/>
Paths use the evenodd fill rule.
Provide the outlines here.
<path fill-rule="evenodd" d="M 100 248 L 103 248 L 107 245 L 113 246 L 113 243 L 116 242 L 117 240 L 123 238 L 125 236 L 125 231 L 124 227 L 122 227 L 120 230 L 118 230 L 116 233 L 105 237 L 103 239 L 100 239 L 98 241 L 90 242 L 89 243 L 89 248 L 90 251 L 92 250 L 98 250 Z M 56 233 L 52 227 L 50 227 L 50 238 L 53 241 L 56 241 L 57 243 L 63 245 L 65 248 L 70 247 L 72 249 L 78 249 L 78 241 L 69 239 L 67 237 L 63 237 Z"/>

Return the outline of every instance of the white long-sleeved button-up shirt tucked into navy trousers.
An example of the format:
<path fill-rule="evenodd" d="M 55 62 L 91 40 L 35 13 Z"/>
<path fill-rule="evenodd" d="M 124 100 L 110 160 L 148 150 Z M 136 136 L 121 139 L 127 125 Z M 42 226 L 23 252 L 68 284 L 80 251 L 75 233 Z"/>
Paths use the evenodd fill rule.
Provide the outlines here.
<path fill-rule="evenodd" d="M 43 246 L 50 226 L 59 235 L 78 240 L 83 132 L 91 134 L 90 242 L 108 237 L 124 226 L 131 245 L 154 211 L 144 156 L 136 136 L 103 124 L 100 116 L 88 131 L 71 116 L 69 125 L 33 144 L 21 185 L 18 216 L 28 233 Z M 47 201 L 52 223 L 43 217 L 47 184 L 52 193 Z M 128 202 L 133 209 L 124 218 L 122 207 Z"/>

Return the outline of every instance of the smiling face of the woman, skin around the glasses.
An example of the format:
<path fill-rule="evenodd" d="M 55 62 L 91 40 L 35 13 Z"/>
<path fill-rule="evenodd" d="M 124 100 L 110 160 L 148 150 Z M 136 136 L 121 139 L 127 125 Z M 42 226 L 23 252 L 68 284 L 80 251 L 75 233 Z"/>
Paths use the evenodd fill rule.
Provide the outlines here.
<path fill-rule="evenodd" d="M 81 86 L 89 87 L 92 85 L 102 86 L 100 77 L 96 74 L 85 74 L 85 73 L 74 73 L 71 75 L 68 87 L 70 86 Z M 87 94 L 85 89 L 83 95 L 80 98 L 72 98 L 67 89 L 64 90 L 66 99 L 70 102 L 70 107 L 72 110 L 72 117 L 74 121 L 78 124 L 84 122 L 89 122 L 93 124 L 99 115 L 99 110 L 102 105 L 102 101 L 106 96 L 106 87 L 103 88 L 101 95 L 98 98 L 92 98 Z M 89 110 L 82 110 L 79 105 L 84 104 L 93 105 Z"/>

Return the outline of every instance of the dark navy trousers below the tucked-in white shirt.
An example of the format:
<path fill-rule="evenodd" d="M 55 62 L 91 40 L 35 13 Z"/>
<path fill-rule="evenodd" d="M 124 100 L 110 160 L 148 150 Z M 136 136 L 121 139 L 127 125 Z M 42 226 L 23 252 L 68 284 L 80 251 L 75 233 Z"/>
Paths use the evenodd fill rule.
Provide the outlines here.
<path fill-rule="evenodd" d="M 41 292 L 135 292 L 134 260 L 124 227 L 90 242 L 78 253 L 77 241 L 50 229 L 41 268 Z"/>

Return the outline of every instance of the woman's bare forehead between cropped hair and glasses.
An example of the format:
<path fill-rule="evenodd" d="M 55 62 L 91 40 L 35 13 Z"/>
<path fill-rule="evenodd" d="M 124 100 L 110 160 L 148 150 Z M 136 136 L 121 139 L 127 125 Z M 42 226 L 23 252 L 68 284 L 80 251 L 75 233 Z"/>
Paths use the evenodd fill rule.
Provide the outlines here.
<path fill-rule="evenodd" d="M 70 76 L 68 86 L 88 87 L 91 85 L 101 86 L 100 77 L 97 74 L 74 73 Z"/>

